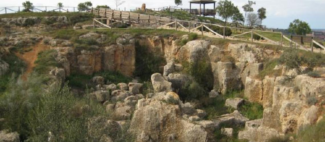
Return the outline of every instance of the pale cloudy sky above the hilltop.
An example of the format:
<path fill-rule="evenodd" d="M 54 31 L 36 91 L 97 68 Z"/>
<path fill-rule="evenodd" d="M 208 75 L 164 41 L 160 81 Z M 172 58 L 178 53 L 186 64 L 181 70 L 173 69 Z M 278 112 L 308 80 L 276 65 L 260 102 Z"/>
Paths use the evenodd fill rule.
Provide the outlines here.
<path fill-rule="evenodd" d="M 23 0 L 1 0 L 0 7 L 21 6 Z M 64 6 L 77 6 L 81 2 L 89 0 L 30 0 L 34 6 L 56 6 L 62 2 Z M 90 0 L 94 7 L 96 5 L 108 5 L 115 9 L 115 0 Z M 179 7 L 189 8 L 190 0 L 183 0 L 183 5 Z M 219 0 L 215 0 L 219 1 Z M 243 12 L 241 6 L 247 3 L 247 0 L 231 0 Z M 268 28 L 288 28 L 290 22 L 294 19 L 300 19 L 309 23 L 313 29 L 325 29 L 325 0 L 255 0 L 253 6 L 256 12 L 258 8 L 266 8 L 266 19 L 263 25 Z M 158 8 L 162 6 L 175 6 L 174 0 L 125 0 L 125 3 L 119 8 L 126 10 L 136 9 L 145 3 L 147 8 Z M 193 8 L 199 5 L 192 5 Z M 213 8 L 213 5 L 206 5 L 206 8 Z M 1 8 L 0 8 L 1 9 Z M 3 13 L 0 12 L 0 13 Z"/>

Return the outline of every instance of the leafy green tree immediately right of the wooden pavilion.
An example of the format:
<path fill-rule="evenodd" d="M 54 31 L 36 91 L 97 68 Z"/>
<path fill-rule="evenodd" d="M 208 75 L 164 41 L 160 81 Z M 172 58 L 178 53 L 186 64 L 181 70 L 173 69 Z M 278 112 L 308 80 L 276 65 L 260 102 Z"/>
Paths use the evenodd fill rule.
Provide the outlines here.
<path fill-rule="evenodd" d="M 224 26 L 226 26 L 227 24 L 227 19 L 234 15 L 234 9 L 235 6 L 231 1 L 224 0 L 218 2 L 216 12 L 218 13 L 219 16 L 225 19 Z M 225 36 L 225 33 L 223 34 L 223 36 Z"/>

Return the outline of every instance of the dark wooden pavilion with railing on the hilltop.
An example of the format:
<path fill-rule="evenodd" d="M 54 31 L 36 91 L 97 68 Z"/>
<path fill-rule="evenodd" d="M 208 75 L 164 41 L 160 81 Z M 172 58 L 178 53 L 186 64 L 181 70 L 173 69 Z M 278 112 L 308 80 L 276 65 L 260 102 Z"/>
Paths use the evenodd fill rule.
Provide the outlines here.
<path fill-rule="evenodd" d="M 200 4 L 200 9 L 192 10 L 192 4 Z M 203 4 L 203 9 L 201 8 L 201 5 Z M 205 9 L 205 4 L 213 4 L 213 9 Z M 203 16 L 214 16 L 216 14 L 215 11 L 215 1 L 214 0 L 191 0 L 189 1 L 189 9 L 190 13 L 195 14 L 195 15 L 203 15 Z"/>

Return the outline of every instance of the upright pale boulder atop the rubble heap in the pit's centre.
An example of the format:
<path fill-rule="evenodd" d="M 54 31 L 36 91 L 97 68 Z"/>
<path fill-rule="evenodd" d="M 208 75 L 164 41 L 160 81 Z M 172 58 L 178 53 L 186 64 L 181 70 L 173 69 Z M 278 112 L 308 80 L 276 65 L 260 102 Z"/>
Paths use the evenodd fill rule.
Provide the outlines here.
<path fill-rule="evenodd" d="M 153 90 L 155 92 L 172 92 L 172 83 L 168 82 L 160 73 L 155 73 L 151 75 L 151 82 L 153 86 Z"/>

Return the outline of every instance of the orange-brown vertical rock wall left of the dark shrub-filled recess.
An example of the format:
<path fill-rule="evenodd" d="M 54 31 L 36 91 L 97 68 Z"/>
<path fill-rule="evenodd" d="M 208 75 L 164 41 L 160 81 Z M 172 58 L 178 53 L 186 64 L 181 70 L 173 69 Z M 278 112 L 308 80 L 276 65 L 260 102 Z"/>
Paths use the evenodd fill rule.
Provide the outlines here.
<path fill-rule="evenodd" d="M 106 38 L 97 33 L 83 35 L 84 38 L 94 38 L 98 41 Z M 135 70 L 135 39 L 130 35 L 123 35 L 117 43 L 100 48 L 90 46 L 89 49 L 69 47 L 69 41 L 47 38 L 47 44 L 59 52 L 57 60 L 63 65 L 67 75 L 70 72 L 81 72 L 92 75 L 98 71 L 119 71 L 132 76 Z"/>

